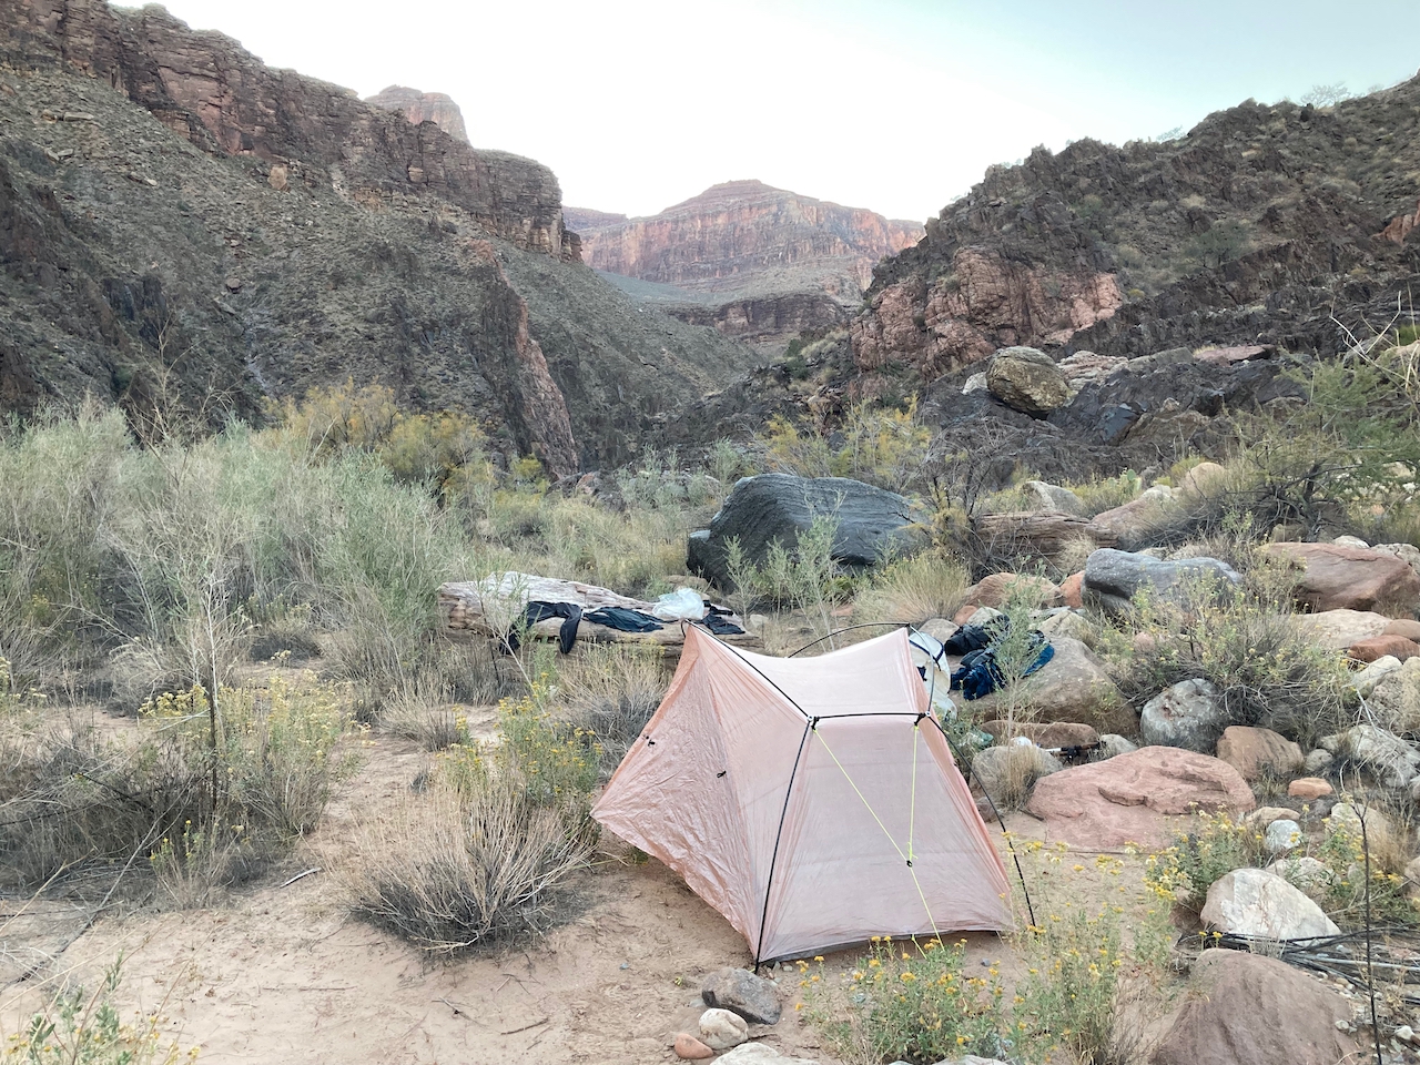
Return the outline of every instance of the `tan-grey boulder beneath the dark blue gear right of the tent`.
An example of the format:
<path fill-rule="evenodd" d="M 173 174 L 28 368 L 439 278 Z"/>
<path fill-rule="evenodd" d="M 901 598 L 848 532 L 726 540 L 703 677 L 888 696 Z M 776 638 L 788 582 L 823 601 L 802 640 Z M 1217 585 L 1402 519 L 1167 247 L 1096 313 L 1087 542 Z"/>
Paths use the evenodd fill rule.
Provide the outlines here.
<path fill-rule="evenodd" d="M 1005 692 L 977 699 L 983 719 L 1000 719 L 1008 701 L 1038 721 L 1078 721 L 1095 731 L 1132 733 L 1136 721 L 1099 659 L 1076 639 L 1052 636 L 1055 655 L 1039 670 Z"/>

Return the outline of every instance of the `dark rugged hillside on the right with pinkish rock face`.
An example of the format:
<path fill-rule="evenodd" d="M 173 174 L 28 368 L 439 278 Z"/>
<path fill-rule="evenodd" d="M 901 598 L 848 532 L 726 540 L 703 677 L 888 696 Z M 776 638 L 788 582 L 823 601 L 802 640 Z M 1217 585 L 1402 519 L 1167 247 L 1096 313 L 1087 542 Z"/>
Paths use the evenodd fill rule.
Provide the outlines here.
<path fill-rule="evenodd" d="M 1393 310 L 1420 268 L 1417 132 L 1420 80 L 991 168 L 876 270 L 852 325 L 862 383 L 893 368 L 932 381 L 1011 344 L 1335 352 L 1333 311 Z"/>

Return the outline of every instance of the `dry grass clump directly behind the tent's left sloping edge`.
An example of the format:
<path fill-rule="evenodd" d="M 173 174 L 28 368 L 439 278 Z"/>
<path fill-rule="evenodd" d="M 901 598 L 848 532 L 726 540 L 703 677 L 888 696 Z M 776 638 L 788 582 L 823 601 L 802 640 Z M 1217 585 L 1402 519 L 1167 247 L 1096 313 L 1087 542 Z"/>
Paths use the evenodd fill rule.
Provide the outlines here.
<path fill-rule="evenodd" d="M 657 648 L 609 643 L 591 646 L 561 673 L 567 714 L 601 744 L 602 777 L 621 765 L 666 694 L 666 670 Z"/>

